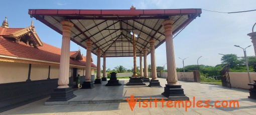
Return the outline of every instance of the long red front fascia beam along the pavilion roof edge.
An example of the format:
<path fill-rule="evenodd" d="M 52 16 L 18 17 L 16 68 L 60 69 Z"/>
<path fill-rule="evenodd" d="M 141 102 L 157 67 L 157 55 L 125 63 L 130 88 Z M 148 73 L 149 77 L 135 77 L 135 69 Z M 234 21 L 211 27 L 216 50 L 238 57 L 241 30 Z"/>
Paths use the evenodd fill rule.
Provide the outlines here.
<path fill-rule="evenodd" d="M 178 14 L 200 14 L 199 8 L 190 9 L 29 9 L 30 15 L 69 15 L 69 16 L 138 16 L 138 15 L 178 15 Z"/>

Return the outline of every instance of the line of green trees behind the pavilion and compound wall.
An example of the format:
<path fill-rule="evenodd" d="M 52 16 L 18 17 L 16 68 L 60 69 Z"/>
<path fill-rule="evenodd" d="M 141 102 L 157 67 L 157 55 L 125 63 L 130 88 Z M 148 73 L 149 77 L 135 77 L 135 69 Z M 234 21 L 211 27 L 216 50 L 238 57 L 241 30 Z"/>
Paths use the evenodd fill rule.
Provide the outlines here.
<path fill-rule="evenodd" d="M 220 75 L 220 70 L 227 65 L 227 60 L 229 62 L 230 72 L 247 72 L 244 57 L 238 57 L 236 54 L 225 54 L 225 55 L 226 56 L 223 55 L 221 57 L 220 59 L 221 63 L 215 66 L 200 64 L 199 65 L 200 74 L 204 76 Z M 253 65 L 256 64 L 255 56 L 247 56 L 247 60 L 248 60 L 249 71 L 254 72 Z M 198 69 L 198 66 L 196 64 L 193 64 L 193 65 L 186 65 L 184 68 L 185 68 L 185 72 L 190 72 Z M 176 70 L 177 72 L 183 72 L 183 67 L 181 68 L 177 67 Z M 122 65 L 118 65 L 114 67 L 114 69 L 111 70 L 110 68 L 108 68 L 106 71 L 107 72 L 115 71 L 117 73 L 133 72 L 134 68 L 127 69 Z M 151 64 L 148 65 L 148 71 L 151 71 Z M 164 66 L 157 66 L 157 71 L 166 72 L 167 69 L 164 69 Z M 137 66 L 137 73 L 139 72 L 140 72 L 140 67 Z"/>

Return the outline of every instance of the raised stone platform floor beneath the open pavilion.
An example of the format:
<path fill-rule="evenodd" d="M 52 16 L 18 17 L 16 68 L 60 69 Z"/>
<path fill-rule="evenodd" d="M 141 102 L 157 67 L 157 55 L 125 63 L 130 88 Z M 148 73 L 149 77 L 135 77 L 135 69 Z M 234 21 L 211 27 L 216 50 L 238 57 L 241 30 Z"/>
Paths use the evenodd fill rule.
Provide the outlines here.
<path fill-rule="evenodd" d="M 129 79 L 120 79 L 119 82 L 125 84 L 129 82 Z M 107 81 L 103 81 L 102 84 L 94 84 L 95 87 L 91 89 L 80 88 L 74 91 L 74 94 L 77 96 L 68 101 L 46 101 L 45 105 L 127 102 L 126 97 L 130 99 L 132 94 L 139 98 L 138 101 L 145 99 L 154 100 L 155 97 L 158 100 L 162 98 L 171 100 L 161 94 L 164 91 L 163 87 L 149 87 L 147 86 L 149 83 L 137 86 L 105 86 L 106 83 Z"/>

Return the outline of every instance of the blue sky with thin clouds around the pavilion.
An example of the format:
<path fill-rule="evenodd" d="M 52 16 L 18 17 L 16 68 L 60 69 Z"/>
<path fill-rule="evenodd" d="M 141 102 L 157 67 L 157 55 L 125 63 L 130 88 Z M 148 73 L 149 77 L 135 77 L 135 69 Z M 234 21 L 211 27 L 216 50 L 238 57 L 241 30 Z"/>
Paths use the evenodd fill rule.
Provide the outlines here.
<path fill-rule="evenodd" d="M 46 26 L 42 22 L 31 18 L 28 9 L 130 9 L 134 5 L 137 9 L 175 9 L 175 8 L 202 8 L 201 17 L 194 19 L 183 29 L 174 40 L 176 67 L 184 64 L 213 65 L 221 63 L 223 54 L 237 54 L 243 56 L 240 45 L 252 45 L 250 37 L 252 26 L 256 22 L 256 11 L 243 13 L 219 13 L 206 11 L 233 12 L 256 9 L 256 0 L 5 0 L 0 7 L 0 21 L 8 17 L 10 27 L 28 27 L 34 20 L 36 31 L 43 42 L 61 47 L 62 35 Z M 256 31 L 256 27 L 254 27 Z M 70 51 L 78 50 L 79 45 L 71 41 Z M 81 48 L 85 55 L 86 49 Z M 248 56 L 254 56 L 253 46 L 246 48 Z M 156 65 L 164 66 L 166 60 L 165 43 L 156 50 Z M 94 63 L 97 57 L 92 53 Z M 180 58 L 179 58 L 180 57 Z M 139 60 L 139 57 L 137 57 Z M 151 63 L 150 54 L 148 64 Z M 101 58 L 102 68 L 103 58 Z M 106 67 L 113 69 L 123 65 L 127 69 L 133 66 L 133 57 L 107 57 Z M 137 61 L 137 66 L 140 63 Z M 165 65 L 165 69 L 167 69 Z"/>

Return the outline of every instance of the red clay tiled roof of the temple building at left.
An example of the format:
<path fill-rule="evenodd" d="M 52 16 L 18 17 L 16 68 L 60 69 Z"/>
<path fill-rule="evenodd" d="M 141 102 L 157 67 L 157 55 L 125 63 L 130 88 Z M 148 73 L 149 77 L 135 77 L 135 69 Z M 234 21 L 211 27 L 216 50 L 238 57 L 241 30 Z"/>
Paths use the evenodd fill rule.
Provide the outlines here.
<path fill-rule="evenodd" d="M 6 28 L 8 29 L 8 28 Z M 2 27 L 3 30 L 3 27 Z M 20 30 L 18 29 L 9 29 L 9 31 Z M 1 28 L 0 28 L 1 33 Z M 10 34 L 5 33 L 5 34 Z M 0 35 L 0 54 L 9 55 L 9 56 L 16 56 L 16 57 L 24 57 L 30 59 L 38 59 L 38 60 L 45 60 L 51 62 L 60 62 L 60 54 L 61 49 L 55 47 L 53 45 L 47 44 L 43 42 L 43 46 L 39 47 L 31 47 L 30 45 L 25 44 L 24 42 L 14 42 L 8 39 L 5 39 L 3 36 Z M 70 64 L 74 65 L 81 65 L 85 66 L 85 60 L 72 60 L 70 59 Z M 91 63 L 91 67 L 96 67 L 95 64 Z"/>

